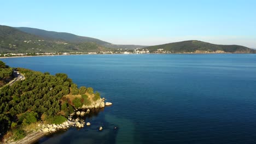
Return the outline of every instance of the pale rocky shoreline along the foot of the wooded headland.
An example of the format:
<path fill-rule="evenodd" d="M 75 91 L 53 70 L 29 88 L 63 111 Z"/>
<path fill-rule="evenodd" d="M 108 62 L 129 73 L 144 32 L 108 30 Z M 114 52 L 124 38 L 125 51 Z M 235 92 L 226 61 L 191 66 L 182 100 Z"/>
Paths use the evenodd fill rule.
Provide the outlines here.
<path fill-rule="evenodd" d="M 10 143 L 10 144 L 29 144 L 34 143 L 38 141 L 41 137 L 55 133 L 58 130 L 67 130 L 70 127 L 77 127 L 77 128 L 83 128 L 85 127 L 85 121 L 82 117 L 88 115 L 92 109 L 101 109 L 103 107 L 108 106 L 109 102 L 105 103 L 104 98 L 98 99 L 94 101 L 91 105 L 82 107 L 79 107 L 79 109 L 76 109 L 71 115 L 68 116 L 67 121 L 61 123 L 61 124 L 38 124 L 39 130 L 34 131 L 33 133 L 28 134 L 26 137 L 24 137 L 21 140 L 18 141 L 7 141 L 4 143 Z M 110 103 L 112 105 L 112 103 Z M 90 110 L 91 109 L 91 110 Z M 91 124 L 88 122 L 86 123 L 87 126 L 90 126 Z M 102 130 L 102 127 L 99 125 L 99 130 Z"/>

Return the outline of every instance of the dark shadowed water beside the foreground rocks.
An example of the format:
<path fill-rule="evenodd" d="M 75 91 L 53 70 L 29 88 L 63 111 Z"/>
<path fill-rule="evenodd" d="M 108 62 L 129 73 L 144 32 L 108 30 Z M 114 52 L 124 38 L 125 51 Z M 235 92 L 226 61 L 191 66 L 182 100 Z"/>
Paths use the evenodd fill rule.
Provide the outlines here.
<path fill-rule="evenodd" d="M 46 135 L 39 139 L 36 144 L 44 143 L 115 143 L 118 128 L 113 123 L 106 121 L 104 109 L 92 109 L 83 117 L 85 123 L 91 125 L 84 128 L 71 127 L 68 130 L 60 130 L 57 133 Z M 98 128 L 102 126 L 103 130 Z"/>

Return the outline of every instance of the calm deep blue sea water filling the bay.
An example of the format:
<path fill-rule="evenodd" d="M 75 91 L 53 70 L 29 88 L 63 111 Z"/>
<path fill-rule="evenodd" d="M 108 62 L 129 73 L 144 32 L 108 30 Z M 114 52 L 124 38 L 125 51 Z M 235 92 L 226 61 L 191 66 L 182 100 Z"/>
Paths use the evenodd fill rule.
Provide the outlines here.
<path fill-rule="evenodd" d="M 255 143 L 256 55 L 75 55 L 1 59 L 66 73 L 113 103 L 37 143 Z M 97 128 L 102 125 L 103 131 Z M 118 127 L 117 130 L 114 127 Z"/>

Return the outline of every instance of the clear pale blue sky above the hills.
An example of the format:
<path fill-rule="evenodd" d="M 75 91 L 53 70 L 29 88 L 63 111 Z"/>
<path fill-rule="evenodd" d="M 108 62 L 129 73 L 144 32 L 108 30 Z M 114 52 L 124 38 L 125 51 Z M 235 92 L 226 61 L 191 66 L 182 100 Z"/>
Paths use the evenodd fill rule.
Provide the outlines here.
<path fill-rule="evenodd" d="M 113 44 L 181 40 L 256 48 L 256 1 L 1 1 L 0 25 L 33 27 Z"/>

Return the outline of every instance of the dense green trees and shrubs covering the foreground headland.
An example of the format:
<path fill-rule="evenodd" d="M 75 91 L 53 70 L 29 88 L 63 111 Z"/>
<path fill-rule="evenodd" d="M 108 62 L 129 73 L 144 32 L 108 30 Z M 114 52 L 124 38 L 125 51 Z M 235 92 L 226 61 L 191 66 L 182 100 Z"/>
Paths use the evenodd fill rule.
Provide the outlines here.
<path fill-rule="evenodd" d="M 0 61 L 0 71 L 7 67 L 4 65 Z M 25 80 L 0 89 L 2 135 L 9 130 L 15 139 L 21 139 L 25 136 L 27 125 L 38 121 L 62 123 L 74 112 L 74 108 L 90 104 L 90 99 L 100 98 L 92 88 L 78 88 L 66 74 L 50 75 L 24 68 L 18 70 L 25 76 Z"/>

